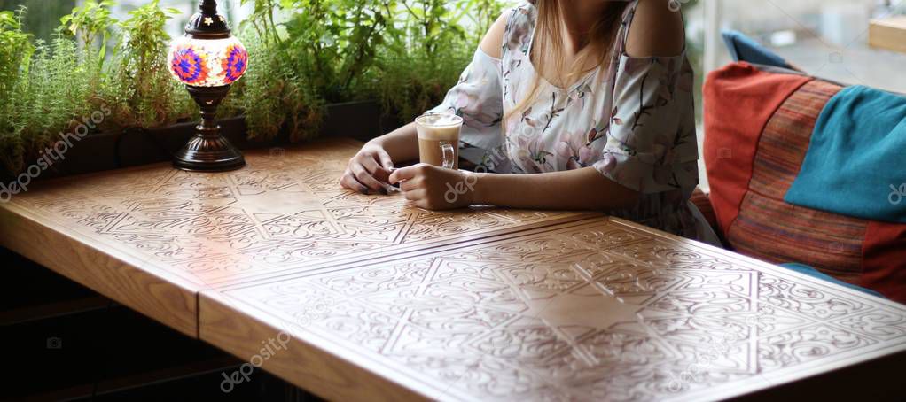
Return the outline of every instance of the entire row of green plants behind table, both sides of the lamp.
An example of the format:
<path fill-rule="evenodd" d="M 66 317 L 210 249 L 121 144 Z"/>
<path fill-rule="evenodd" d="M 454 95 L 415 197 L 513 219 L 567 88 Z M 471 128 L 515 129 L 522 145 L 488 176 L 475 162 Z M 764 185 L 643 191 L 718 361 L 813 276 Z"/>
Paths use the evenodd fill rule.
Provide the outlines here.
<path fill-rule="evenodd" d="M 237 30 L 250 53 L 222 116 L 245 116 L 252 139 L 317 135 L 328 102 L 376 99 L 410 120 L 442 100 L 500 12 L 497 0 L 243 0 Z M 85 0 L 49 43 L 23 32 L 24 9 L 0 14 L 0 162 L 8 174 L 73 119 L 107 107 L 100 129 L 195 116 L 169 77 L 157 0 L 117 22 L 113 0 Z M 279 21 L 279 22 L 278 22 Z M 472 29 L 467 30 L 468 24 Z M 108 43 L 117 52 L 108 54 Z"/>

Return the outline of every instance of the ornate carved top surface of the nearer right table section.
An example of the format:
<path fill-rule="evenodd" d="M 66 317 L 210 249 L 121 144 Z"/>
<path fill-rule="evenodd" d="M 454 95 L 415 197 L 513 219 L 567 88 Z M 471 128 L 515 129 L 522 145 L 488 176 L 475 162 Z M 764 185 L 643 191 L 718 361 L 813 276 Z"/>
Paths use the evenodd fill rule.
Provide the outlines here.
<path fill-rule="evenodd" d="M 286 326 L 329 298 L 293 332 L 441 399 L 729 397 L 737 381 L 906 349 L 906 307 L 600 220 L 226 293 Z"/>

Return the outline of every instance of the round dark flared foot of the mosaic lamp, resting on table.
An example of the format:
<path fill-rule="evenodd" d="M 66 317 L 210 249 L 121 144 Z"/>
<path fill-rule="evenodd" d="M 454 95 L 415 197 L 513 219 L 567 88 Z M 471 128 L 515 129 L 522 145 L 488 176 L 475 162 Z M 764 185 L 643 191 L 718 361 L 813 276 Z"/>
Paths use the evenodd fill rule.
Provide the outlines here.
<path fill-rule="evenodd" d="M 244 166 L 246 158 L 220 136 L 205 138 L 199 134 L 173 156 L 174 168 L 193 172 L 224 172 Z"/>

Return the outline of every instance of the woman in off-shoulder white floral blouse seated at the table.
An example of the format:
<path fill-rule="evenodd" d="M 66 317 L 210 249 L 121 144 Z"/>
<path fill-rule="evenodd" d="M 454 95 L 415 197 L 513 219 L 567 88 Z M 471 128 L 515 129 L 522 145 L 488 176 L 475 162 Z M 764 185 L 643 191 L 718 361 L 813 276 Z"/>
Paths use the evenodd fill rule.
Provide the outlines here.
<path fill-rule="evenodd" d="M 535 0 L 496 21 L 445 101 L 465 120 L 460 156 L 495 173 L 415 165 L 414 124 L 371 140 L 341 183 L 416 206 L 487 204 L 606 211 L 711 240 L 689 203 L 698 185 L 693 75 L 668 0 Z M 531 173 L 531 174 L 508 174 Z M 467 177 L 467 175 L 477 175 Z M 453 202 L 448 184 L 473 183 Z M 461 187 L 460 187 L 461 188 Z"/>

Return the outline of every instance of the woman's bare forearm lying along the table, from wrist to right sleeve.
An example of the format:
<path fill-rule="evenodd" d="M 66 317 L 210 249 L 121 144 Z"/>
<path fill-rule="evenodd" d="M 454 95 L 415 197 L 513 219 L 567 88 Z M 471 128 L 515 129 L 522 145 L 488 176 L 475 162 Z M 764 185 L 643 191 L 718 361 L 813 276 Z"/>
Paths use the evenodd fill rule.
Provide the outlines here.
<path fill-rule="evenodd" d="M 534 175 L 474 174 L 473 204 L 606 211 L 635 205 L 639 194 L 594 168 Z"/>

